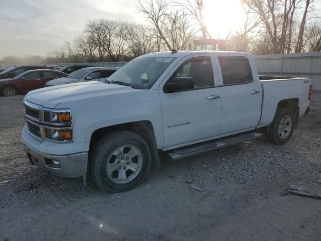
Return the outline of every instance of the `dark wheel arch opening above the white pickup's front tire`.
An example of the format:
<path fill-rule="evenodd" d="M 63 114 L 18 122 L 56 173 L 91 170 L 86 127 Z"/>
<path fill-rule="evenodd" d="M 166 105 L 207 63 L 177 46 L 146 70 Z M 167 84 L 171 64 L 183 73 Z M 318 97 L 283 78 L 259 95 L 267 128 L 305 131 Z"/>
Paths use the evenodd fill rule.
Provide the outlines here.
<path fill-rule="evenodd" d="M 92 150 L 94 145 L 99 141 L 103 136 L 113 131 L 129 131 L 135 133 L 142 137 L 148 144 L 151 152 L 152 164 L 156 168 L 161 168 L 161 160 L 159 159 L 158 150 L 156 146 L 156 139 L 154 134 L 154 128 L 150 121 L 138 121 L 123 123 L 109 127 L 103 127 L 95 130 L 91 134 L 89 152 Z M 89 166 L 89 165 L 88 165 Z"/>

